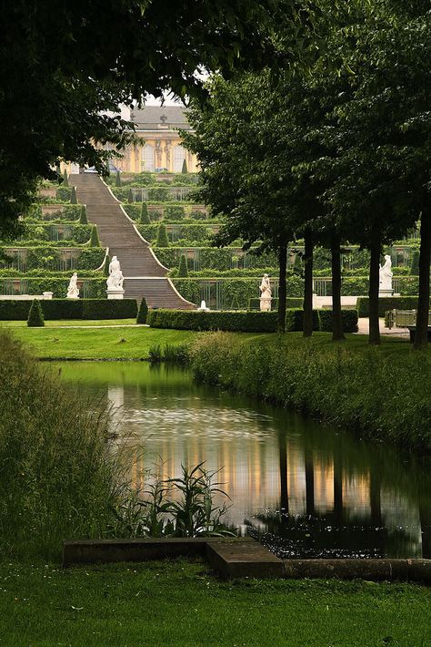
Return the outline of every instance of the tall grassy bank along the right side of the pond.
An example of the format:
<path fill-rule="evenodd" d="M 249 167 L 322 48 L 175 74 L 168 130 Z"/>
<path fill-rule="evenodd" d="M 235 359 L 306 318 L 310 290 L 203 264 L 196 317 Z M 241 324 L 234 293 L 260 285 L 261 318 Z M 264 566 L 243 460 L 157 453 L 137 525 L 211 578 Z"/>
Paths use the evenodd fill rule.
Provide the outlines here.
<path fill-rule="evenodd" d="M 387 340 L 369 347 L 329 334 L 240 339 L 205 334 L 192 349 L 195 376 L 283 406 L 305 410 L 361 434 L 431 450 L 431 355 Z"/>

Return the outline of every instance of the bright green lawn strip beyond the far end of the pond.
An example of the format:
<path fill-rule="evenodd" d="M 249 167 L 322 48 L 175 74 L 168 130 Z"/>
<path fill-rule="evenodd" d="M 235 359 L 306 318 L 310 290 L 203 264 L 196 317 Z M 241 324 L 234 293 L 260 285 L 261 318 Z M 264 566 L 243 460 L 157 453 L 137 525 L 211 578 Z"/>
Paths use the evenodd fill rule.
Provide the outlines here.
<path fill-rule="evenodd" d="M 146 359 L 149 349 L 156 344 L 186 344 L 196 335 L 187 330 L 154 330 L 135 326 L 13 327 L 11 333 L 36 357 L 73 359 Z"/>

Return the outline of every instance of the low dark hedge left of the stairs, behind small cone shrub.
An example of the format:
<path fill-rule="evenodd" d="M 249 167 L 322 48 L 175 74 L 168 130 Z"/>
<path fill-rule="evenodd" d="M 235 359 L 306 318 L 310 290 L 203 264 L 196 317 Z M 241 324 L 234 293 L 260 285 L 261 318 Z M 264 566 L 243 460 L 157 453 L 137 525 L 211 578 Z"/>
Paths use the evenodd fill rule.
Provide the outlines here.
<path fill-rule="evenodd" d="M 0 300 L 0 320 L 25 321 L 33 301 Z M 45 319 L 134 319 L 135 299 L 41 300 Z"/>

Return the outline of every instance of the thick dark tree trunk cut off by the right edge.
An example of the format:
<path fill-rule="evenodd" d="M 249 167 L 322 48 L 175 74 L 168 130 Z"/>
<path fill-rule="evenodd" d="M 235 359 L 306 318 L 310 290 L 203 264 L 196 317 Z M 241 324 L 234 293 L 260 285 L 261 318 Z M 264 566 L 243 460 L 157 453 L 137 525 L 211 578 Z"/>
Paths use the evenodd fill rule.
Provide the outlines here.
<path fill-rule="evenodd" d="M 419 301 L 417 303 L 415 348 L 426 348 L 428 343 L 429 268 L 431 253 L 431 222 L 422 211 L 420 219 Z"/>

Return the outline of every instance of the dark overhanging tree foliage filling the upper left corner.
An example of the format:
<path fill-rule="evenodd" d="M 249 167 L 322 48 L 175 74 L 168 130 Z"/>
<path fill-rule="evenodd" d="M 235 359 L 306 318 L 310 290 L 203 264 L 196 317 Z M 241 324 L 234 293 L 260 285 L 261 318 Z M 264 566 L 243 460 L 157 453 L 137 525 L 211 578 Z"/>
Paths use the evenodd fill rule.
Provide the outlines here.
<path fill-rule="evenodd" d="M 294 0 L 16 0 L 0 8 L 0 224 L 14 227 L 58 159 L 106 172 L 97 144 L 129 138 L 120 103 L 202 94 L 197 69 L 261 67 L 276 32 L 297 30 Z M 288 36 L 287 36 L 288 37 Z M 111 110 L 108 114 L 106 111 Z M 107 153 L 112 157 L 112 151 Z"/>

